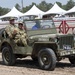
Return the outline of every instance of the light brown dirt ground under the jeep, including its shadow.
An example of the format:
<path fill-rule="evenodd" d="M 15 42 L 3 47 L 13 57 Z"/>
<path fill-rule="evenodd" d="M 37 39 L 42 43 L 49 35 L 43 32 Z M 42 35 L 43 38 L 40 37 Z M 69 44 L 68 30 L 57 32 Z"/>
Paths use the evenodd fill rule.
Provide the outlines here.
<path fill-rule="evenodd" d="M 2 63 L 0 54 L 0 75 L 75 75 L 75 66 L 71 65 L 68 59 L 56 64 L 54 71 L 45 71 L 39 68 L 38 63 L 30 57 L 17 60 L 14 66 L 5 66 Z"/>

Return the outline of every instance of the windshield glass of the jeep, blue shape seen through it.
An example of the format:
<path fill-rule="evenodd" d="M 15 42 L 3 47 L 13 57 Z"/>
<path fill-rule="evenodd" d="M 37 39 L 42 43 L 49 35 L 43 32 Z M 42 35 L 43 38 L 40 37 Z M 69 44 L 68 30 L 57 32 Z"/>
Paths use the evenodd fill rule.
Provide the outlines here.
<path fill-rule="evenodd" d="M 27 30 L 38 30 L 38 29 L 47 29 L 54 28 L 54 23 L 52 20 L 31 20 L 25 21 Z"/>

